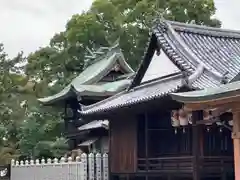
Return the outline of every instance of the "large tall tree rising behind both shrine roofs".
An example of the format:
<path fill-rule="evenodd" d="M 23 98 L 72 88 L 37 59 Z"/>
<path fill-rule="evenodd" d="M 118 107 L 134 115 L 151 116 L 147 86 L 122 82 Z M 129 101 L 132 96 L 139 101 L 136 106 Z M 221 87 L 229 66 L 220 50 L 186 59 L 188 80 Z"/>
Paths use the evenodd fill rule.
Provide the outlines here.
<path fill-rule="evenodd" d="M 95 0 L 89 11 L 72 16 L 49 47 L 29 56 L 27 72 L 50 81 L 64 77 L 64 84 L 83 70 L 87 47 L 109 46 L 118 38 L 127 61 L 137 68 L 155 17 L 219 27 L 212 18 L 215 10 L 213 0 Z"/>

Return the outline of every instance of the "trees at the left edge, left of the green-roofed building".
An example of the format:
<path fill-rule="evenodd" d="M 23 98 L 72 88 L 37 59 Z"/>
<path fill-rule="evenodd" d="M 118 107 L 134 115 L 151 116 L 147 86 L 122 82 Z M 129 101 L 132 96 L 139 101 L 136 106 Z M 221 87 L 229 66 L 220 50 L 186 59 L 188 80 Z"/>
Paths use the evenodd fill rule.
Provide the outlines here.
<path fill-rule="evenodd" d="M 48 82 L 36 72 L 24 74 L 24 61 L 22 53 L 9 59 L 0 45 L 0 164 L 26 156 L 59 157 L 67 151 L 59 111 L 49 112 L 37 102 L 47 93 Z"/>

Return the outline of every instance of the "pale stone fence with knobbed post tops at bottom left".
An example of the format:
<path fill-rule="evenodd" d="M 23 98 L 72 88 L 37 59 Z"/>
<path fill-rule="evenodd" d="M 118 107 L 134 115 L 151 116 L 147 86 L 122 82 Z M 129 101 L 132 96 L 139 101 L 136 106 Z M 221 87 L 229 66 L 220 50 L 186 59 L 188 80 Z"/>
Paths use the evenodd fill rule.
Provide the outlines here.
<path fill-rule="evenodd" d="M 14 161 L 11 180 L 108 180 L 107 154 L 82 154 L 73 160 Z"/>

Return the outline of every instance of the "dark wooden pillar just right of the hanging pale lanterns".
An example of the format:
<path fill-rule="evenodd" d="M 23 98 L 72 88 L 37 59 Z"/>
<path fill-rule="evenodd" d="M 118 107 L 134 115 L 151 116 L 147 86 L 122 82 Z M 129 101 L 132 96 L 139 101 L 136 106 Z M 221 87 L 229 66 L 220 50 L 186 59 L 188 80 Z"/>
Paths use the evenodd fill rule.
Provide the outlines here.
<path fill-rule="evenodd" d="M 200 138 L 199 127 L 196 122 L 202 119 L 201 111 L 194 111 L 192 113 L 192 155 L 193 155 L 193 180 L 200 180 L 199 172 L 199 155 L 200 155 Z"/>

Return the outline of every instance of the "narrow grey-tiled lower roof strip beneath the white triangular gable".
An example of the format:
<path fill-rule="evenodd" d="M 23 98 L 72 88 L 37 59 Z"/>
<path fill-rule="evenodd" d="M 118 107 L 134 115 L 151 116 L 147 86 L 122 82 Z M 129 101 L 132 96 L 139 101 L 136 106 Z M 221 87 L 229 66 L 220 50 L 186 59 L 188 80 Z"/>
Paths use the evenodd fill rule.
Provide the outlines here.
<path fill-rule="evenodd" d="M 170 77 L 138 86 L 130 91 L 124 91 L 93 105 L 83 106 L 80 113 L 83 115 L 101 113 L 110 109 L 142 103 L 166 96 L 170 92 L 176 92 L 183 85 L 184 81 L 182 74 L 173 74 Z"/>

